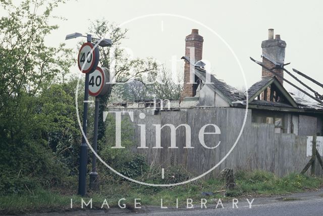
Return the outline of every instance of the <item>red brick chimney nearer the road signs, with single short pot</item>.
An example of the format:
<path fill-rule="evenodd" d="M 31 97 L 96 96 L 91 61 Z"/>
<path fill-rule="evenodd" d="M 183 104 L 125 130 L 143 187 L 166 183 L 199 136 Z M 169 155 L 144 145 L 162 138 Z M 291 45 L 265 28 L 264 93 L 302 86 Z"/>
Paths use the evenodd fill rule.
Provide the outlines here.
<path fill-rule="evenodd" d="M 203 37 L 198 34 L 198 29 L 192 29 L 192 33 L 185 38 L 185 57 L 190 59 L 192 64 L 202 59 Z M 191 76 L 192 75 L 192 76 Z M 184 88 L 181 100 L 185 97 L 193 97 L 196 94 L 198 84 L 195 83 L 194 67 L 188 62 L 184 66 Z"/>

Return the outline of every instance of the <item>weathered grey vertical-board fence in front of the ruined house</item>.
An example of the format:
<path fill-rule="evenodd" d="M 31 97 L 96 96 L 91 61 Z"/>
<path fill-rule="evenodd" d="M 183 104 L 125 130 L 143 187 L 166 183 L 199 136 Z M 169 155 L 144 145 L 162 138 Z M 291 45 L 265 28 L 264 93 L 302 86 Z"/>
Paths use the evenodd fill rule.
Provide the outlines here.
<path fill-rule="evenodd" d="M 217 166 L 226 156 L 239 135 L 245 109 L 196 107 L 161 112 L 153 111 L 152 109 L 129 109 L 123 111 L 134 112 L 134 121 L 131 124 L 134 127 L 133 139 L 136 146 L 133 147 L 133 150 L 144 154 L 149 164 L 165 168 L 166 172 L 169 166 L 181 165 L 195 175 L 201 175 L 213 168 L 203 178 L 216 177 L 226 167 L 234 170 L 265 170 L 284 176 L 293 172 L 299 173 L 310 159 L 306 157 L 305 136 L 309 134 L 303 133 L 304 136 L 297 136 L 291 133 L 275 133 L 273 124 L 252 123 L 251 110 L 248 111 L 245 127 L 239 141 L 217 168 L 214 168 L 214 166 Z M 145 113 L 145 119 L 139 118 L 140 113 Z M 299 119 L 299 133 L 304 128 L 307 130 L 306 133 L 315 132 L 316 124 L 305 121 L 304 118 L 300 117 Z M 141 139 L 138 124 L 146 125 L 145 140 L 148 148 L 137 148 L 140 146 Z M 168 127 L 161 130 L 160 140 L 163 148 L 152 148 L 156 144 L 155 126 L 153 126 L 156 124 L 161 126 L 173 124 L 175 127 L 188 124 L 191 127 L 191 145 L 194 148 L 184 148 L 186 144 L 184 127 L 176 130 L 178 148 L 169 148 L 171 146 L 171 130 Z M 198 132 L 206 124 L 216 124 L 221 129 L 221 134 L 219 135 L 204 135 L 207 146 L 216 146 L 221 141 L 221 144 L 215 149 L 206 149 L 199 142 Z M 205 130 L 205 132 L 213 131 L 214 129 L 211 130 L 210 127 Z M 322 175 L 318 166 L 316 173 Z"/>

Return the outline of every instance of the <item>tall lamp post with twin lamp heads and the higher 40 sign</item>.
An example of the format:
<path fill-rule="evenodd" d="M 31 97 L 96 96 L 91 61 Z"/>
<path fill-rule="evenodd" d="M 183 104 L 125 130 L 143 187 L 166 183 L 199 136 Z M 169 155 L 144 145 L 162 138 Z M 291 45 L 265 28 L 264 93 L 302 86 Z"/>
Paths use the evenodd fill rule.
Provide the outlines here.
<path fill-rule="evenodd" d="M 82 144 L 80 149 L 80 166 L 79 166 L 79 185 L 78 185 L 78 194 L 84 196 L 86 194 L 86 166 L 87 166 L 87 144 L 85 141 L 86 136 L 86 127 L 87 127 L 87 110 L 88 110 L 88 95 L 89 95 L 89 76 L 90 73 L 96 71 L 97 65 L 99 62 L 99 50 L 96 46 L 91 43 L 92 39 L 99 40 L 98 38 L 93 38 L 91 34 L 86 36 L 81 33 L 73 33 L 66 35 L 66 40 L 77 38 L 77 37 L 86 37 L 87 42 L 84 43 L 78 53 L 78 67 L 82 73 L 85 73 L 85 89 L 84 89 L 84 106 L 83 106 L 83 132 Z M 102 39 L 99 46 L 111 46 L 112 41 L 110 39 Z M 102 80 L 103 81 L 103 80 Z M 102 82 L 103 84 L 103 82 Z"/>

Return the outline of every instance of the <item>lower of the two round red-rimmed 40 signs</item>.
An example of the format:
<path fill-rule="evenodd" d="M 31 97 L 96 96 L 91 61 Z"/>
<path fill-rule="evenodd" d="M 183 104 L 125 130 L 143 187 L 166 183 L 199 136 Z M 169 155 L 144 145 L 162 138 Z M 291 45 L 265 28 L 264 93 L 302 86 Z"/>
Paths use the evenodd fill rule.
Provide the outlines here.
<path fill-rule="evenodd" d="M 89 95 L 103 96 L 109 90 L 109 70 L 107 68 L 96 67 L 96 70 L 89 76 Z"/>

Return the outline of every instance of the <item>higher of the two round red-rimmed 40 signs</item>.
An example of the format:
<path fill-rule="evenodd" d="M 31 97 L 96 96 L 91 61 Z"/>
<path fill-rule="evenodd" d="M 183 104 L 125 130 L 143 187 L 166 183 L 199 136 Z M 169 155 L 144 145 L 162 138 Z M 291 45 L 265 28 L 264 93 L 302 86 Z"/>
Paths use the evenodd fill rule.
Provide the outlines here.
<path fill-rule="evenodd" d="M 99 63 L 99 49 L 98 47 L 93 49 L 93 47 L 94 45 L 92 43 L 86 42 L 80 48 L 77 62 L 82 73 L 93 72 Z"/>

